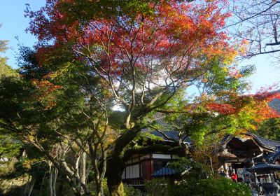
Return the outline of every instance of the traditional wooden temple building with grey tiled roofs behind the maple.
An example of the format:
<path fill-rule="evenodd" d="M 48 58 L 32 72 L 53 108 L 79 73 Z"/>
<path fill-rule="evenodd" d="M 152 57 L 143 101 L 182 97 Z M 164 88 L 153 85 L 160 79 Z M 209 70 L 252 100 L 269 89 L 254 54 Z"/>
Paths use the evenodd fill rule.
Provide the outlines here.
<path fill-rule="evenodd" d="M 160 137 L 159 143 L 175 147 L 179 139 L 190 146 L 188 137 L 180 136 L 176 131 L 153 131 L 155 137 Z M 279 184 L 280 142 L 265 139 L 256 134 L 228 135 L 221 140 L 220 150 L 216 154 L 221 171 L 235 172 L 238 181 L 244 181 L 258 193 L 265 193 L 265 188 L 277 191 Z M 139 152 L 127 158 L 123 182 L 141 188 L 144 181 L 157 177 L 172 177 L 178 172 L 167 167 L 169 162 L 179 158 L 179 155 L 169 151 Z M 186 171 L 191 169 L 186 167 Z M 186 172 L 181 171 L 181 172 Z M 216 171 L 218 172 L 218 171 Z M 270 192 L 272 193 L 272 192 Z"/>

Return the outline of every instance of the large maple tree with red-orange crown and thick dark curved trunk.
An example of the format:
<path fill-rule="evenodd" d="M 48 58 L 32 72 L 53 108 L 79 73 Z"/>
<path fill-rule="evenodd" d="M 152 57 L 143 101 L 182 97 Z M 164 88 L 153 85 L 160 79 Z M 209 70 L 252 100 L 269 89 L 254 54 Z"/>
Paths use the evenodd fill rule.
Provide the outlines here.
<path fill-rule="evenodd" d="M 118 126 L 111 125 L 120 131 L 106 167 L 111 195 L 124 194 L 123 153 L 141 128 L 147 127 L 149 115 L 158 109 L 167 110 L 164 106 L 194 83 L 200 83 L 203 89 L 209 84 L 207 73 L 215 66 L 224 70 L 217 76 L 239 78 L 235 66 L 229 66 L 237 55 L 237 45 L 230 45 L 230 38 L 220 31 L 229 17 L 223 3 L 49 0 L 37 12 L 27 10 L 29 31 L 39 41 L 38 64 L 52 65 L 54 79 L 68 74 L 69 66 L 77 75 L 87 70 L 83 78 L 88 74 L 96 77 L 100 91 L 105 93 L 100 102 L 110 97 L 118 109 L 125 111 Z M 65 53 L 71 58 L 57 64 L 55 59 Z M 63 83 L 60 85 L 64 88 Z M 236 89 L 232 91 L 226 90 L 220 97 L 226 99 Z M 205 95 L 207 92 L 201 97 Z M 216 109 L 212 104 L 209 110 L 221 112 L 228 106 L 222 101 L 215 104 Z"/>

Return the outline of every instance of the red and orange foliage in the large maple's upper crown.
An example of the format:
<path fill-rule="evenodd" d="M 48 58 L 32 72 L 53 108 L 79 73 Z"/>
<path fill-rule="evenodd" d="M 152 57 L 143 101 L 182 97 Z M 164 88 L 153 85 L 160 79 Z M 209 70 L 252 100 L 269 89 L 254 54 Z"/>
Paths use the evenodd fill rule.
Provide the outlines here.
<path fill-rule="evenodd" d="M 134 64 L 141 71 L 154 71 L 158 68 L 147 66 L 153 62 L 176 75 L 202 69 L 204 65 L 198 59 L 236 54 L 225 32 L 220 31 L 230 16 L 218 6 L 225 1 L 160 1 L 150 3 L 153 14 L 139 13 L 133 20 L 120 15 L 92 16 L 87 21 L 73 17 L 69 20 L 71 11 L 63 9 L 66 2 L 74 6 L 72 1 L 48 0 L 45 8 L 29 12 L 29 30 L 40 41 L 53 42 L 55 48 L 70 44 L 77 57 L 98 60 L 102 74 L 118 77 L 127 64 Z"/>

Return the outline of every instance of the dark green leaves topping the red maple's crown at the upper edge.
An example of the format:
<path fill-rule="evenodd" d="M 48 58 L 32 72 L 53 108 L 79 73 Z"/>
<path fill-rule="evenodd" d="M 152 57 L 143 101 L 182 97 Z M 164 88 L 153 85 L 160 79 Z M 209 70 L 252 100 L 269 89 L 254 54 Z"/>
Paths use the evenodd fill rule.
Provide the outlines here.
<path fill-rule="evenodd" d="M 106 1 L 70 1 L 58 3 L 59 10 L 66 15 L 64 22 L 71 24 L 77 20 L 80 27 L 83 27 L 95 19 L 118 18 L 127 15 L 127 18 L 135 19 L 137 15 L 152 15 L 154 13 L 153 5 L 159 3 L 158 0 L 106 0 Z M 132 21 L 131 21 L 132 22 Z"/>

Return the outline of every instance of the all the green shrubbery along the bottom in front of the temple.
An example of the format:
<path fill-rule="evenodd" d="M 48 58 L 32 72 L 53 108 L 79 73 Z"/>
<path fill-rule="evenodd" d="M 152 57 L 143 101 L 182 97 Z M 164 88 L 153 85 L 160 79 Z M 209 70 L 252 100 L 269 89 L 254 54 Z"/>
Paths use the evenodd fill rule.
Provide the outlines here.
<path fill-rule="evenodd" d="M 153 179 L 146 181 L 145 189 L 147 196 L 251 196 L 251 189 L 244 183 L 235 183 L 230 179 L 223 177 L 219 179 L 212 178 L 207 171 L 207 167 L 182 158 L 168 165 L 181 174 L 181 171 L 191 167 L 190 171 L 183 176 L 178 175 L 180 179 L 174 185 L 170 185 L 168 179 Z M 210 177 L 210 178 L 209 178 Z M 170 181 L 171 182 L 171 181 Z M 173 184 L 173 183 L 172 183 Z"/>

